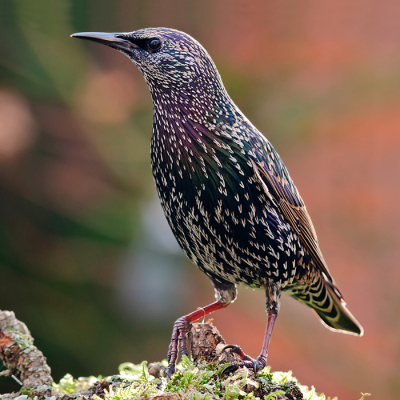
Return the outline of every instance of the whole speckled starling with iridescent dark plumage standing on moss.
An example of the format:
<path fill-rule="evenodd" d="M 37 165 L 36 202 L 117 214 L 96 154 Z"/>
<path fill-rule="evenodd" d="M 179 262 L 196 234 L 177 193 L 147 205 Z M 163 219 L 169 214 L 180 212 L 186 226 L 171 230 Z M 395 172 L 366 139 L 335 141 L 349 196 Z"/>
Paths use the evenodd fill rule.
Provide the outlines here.
<path fill-rule="evenodd" d="M 183 252 L 215 290 L 214 302 L 175 321 L 168 377 L 179 347 L 188 355 L 192 322 L 231 304 L 238 284 L 265 290 L 266 330 L 256 359 L 225 346 L 239 361 L 223 372 L 266 366 L 282 292 L 328 328 L 362 336 L 282 159 L 230 98 L 204 47 L 170 28 L 71 36 L 122 52 L 143 75 L 153 101 L 150 155 L 161 206 Z"/>

